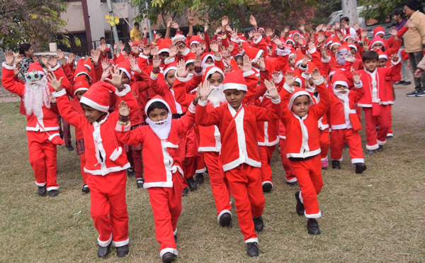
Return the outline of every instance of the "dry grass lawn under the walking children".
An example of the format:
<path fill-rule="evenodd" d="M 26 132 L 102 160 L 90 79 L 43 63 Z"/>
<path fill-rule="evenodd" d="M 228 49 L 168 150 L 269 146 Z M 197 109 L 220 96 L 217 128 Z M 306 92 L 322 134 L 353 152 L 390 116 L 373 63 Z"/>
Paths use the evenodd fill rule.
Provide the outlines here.
<path fill-rule="evenodd" d="M 306 218 L 296 215 L 298 186 L 285 184 L 276 150 L 271 164 L 275 188 L 266 194 L 260 257 L 246 256 L 235 208 L 232 228 L 217 224 L 206 177 L 198 191 L 183 198 L 178 262 L 424 262 L 425 101 L 406 98 L 407 91 L 396 89 L 395 138 L 384 152 L 365 157 L 363 174 L 354 173 L 348 150 L 341 170 L 323 172 L 322 235 L 308 235 Z M 98 234 L 90 196 L 81 193 L 75 152 L 58 148 L 59 196 L 36 194 L 26 118 L 16 104 L 0 103 L 0 262 L 161 262 L 149 196 L 137 189 L 134 177 L 127 183 L 130 254 L 123 259 L 115 249 L 107 259 L 97 258 Z M 361 135 L 364 147 L 364 130 Z"/>

